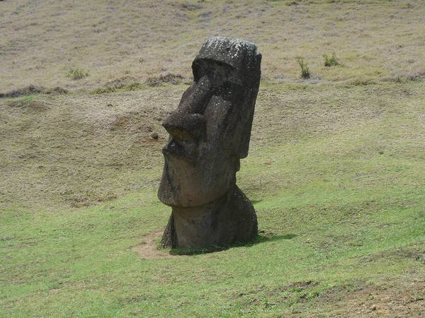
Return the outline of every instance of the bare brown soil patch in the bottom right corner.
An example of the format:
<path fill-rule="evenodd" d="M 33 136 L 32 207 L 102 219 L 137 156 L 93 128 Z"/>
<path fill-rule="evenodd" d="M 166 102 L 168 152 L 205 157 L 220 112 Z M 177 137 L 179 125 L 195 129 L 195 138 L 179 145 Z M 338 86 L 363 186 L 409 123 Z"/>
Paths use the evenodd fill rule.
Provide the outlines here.
<path fill-rule="evenodd" d="M 319 316 L 307 317 L 425 317 L 425 280 L 392 281 L 387 287 L 368 285 L 353 291 L 334 288 L 317 301 L 328 305 L 320 306 Z"/>

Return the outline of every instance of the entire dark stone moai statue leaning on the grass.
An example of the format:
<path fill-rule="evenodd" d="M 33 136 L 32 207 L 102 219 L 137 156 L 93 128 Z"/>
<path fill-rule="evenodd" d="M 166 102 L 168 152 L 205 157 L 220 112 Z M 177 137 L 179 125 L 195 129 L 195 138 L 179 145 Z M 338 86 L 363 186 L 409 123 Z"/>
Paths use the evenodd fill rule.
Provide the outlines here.
<path fill-rule="evenodd" d="M 261 54 L 245 40 L 212 37 L 192 64 L 193 84 L 162 126 L 164 172 L 158 197 L 172 213 L 163 247 L 247 242 L 257 232 L 254 206 L 236 185 L 248 155 Z"/>

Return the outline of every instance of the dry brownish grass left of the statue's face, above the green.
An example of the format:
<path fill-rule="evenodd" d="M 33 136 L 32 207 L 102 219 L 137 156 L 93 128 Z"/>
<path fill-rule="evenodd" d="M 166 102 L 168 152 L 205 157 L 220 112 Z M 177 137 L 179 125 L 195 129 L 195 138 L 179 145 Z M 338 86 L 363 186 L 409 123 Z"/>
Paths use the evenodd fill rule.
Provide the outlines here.
<path fill-rule="evenodd" d="M 146 187 L 168 138 L 162 119 L 179 95 L 155 89 L 0 99 L 0 203 L 81 207 Z"/>

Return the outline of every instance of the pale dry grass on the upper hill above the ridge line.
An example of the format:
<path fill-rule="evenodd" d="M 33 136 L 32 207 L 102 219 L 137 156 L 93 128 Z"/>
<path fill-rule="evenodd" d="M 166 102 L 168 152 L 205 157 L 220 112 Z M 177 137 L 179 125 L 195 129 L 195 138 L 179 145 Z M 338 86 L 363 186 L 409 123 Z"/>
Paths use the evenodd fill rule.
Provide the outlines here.
<path fill-rule="evenodd" d="M 421 0 L 2 1 L 0 93 L 30 85 L 95 88 L 179 74 L 210 36 L 242 37 L 263 54 L 264 83 L 411 81 L 425 74 Z M 336 52 L 340 66 L 326 68 Z M 79 81 L 70 67 L 89 69 Z"/>

